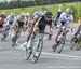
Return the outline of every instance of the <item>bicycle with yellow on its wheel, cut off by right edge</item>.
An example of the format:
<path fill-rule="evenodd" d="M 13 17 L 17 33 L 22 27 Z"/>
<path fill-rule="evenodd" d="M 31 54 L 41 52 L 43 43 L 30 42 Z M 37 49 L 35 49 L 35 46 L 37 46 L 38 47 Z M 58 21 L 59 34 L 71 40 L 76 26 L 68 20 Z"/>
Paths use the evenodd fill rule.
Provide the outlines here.
<path fill-rule="evenodd" d="M 77 37 L 73 37 L 73 38 L 71 39 L 71 46 L 70 46 L 71 50 L 72 50 L 75 46 L 76 46 L 76 50 L 80 50 L 80 49 L 81 49 L 81 40 L 80 40 L 80 38 L 81 38 L 81 33 L 78 33 Z"/>

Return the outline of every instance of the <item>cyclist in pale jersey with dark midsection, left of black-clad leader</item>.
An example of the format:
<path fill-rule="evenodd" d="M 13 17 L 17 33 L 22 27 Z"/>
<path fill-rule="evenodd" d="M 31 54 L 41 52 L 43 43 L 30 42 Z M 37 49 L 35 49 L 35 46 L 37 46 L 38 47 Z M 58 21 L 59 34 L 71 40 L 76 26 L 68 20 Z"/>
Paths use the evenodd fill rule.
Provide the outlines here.
<path fill-rule="evenodd" d="M 25 24 L 25 13 L 22 13 L 21 15 L 18 15 L 18 17 L 16 18 L 14 23 L 14 28 L 16 28 L 16 33 L 15 33 L 15 37 L 12 38 L 12 42 L 15 42 L 12 44 L 12 46 L 17 44 L 17 39 L 23 34 L 22 31 L 24 28 L 24 24 Z"/>

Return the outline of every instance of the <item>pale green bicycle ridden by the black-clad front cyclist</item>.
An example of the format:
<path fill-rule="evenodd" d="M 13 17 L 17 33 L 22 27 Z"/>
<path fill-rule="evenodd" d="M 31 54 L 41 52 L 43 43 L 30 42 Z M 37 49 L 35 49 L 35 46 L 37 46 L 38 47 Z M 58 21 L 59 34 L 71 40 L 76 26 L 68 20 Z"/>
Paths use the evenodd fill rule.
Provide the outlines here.
<path fill-rule="evenodd" d="M 41 37 L 37 39 L 38 42 L 36 40 L 36 42 L 38 43 L 37 47 L 36 47 L 36 45 L 31 45 L 30 47 L 26 46 L 26 60 L 28 60 L 30 58 L 30 56 L 32 55 L 33 63 L 37 63 L 37 60 L 39 59 L 39 57 L 41 55 L 42 49 L 43 49 L 43 34 L 50 34 L 50 33 L 48 33 L 48 32 L 41 33 Z M 30 41 L 28 41 L 28 42 L 30 43 Z"/>

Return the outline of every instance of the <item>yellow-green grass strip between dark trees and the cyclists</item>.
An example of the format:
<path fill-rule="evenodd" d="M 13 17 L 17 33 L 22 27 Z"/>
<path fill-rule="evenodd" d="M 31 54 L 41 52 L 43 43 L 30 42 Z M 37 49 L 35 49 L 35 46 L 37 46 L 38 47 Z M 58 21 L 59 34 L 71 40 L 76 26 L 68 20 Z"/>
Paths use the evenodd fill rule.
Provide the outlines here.
<path fill-rule="evenodd" d="M 67 8 L 72 8 L 73 10 L 73 16 L 75 20 L 78 19 L 78 17 L 81 16 L 81 2 L 73 2 L 73 3 L 63 3 L 62 4 L 62 11 L 65 11 Z M 58 4 L 52 4 L 52 5 L 42 5 L 42 6 L 30 6 L 30 8 L 19 8 L 19 9 L 9 9 L 9 10 L 0 10 L 0 12 L 5 12 L 6 15 L 9 15 L 11 12 L 14 12 L 15 15 L 21 14 L 22 12 L 29 12 L 32 14 L 35 11 L 51 11 L 54 15 L 56 11 L 58 10 L 59 5 Z"/>

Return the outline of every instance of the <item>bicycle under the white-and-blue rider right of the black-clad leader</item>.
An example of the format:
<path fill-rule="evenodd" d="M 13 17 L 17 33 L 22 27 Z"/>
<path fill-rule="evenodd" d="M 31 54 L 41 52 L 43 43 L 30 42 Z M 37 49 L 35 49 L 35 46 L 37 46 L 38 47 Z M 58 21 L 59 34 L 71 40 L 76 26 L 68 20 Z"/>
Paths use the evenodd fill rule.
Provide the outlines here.
<path fill-rule="evenodd" d="M 60 28 L 62 31 L 58 36 L 58 39 L 56 40 L 56 46 L 52 46 L 53 47 L 53 52 L 57 51 L 58 53 L 60 53 L 64 49 L 65 45 L 65 41 L 66 41 L 66 33 L 65 30 L 66 28 Z"/>

